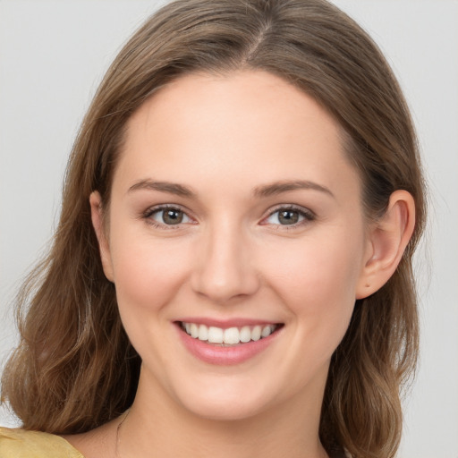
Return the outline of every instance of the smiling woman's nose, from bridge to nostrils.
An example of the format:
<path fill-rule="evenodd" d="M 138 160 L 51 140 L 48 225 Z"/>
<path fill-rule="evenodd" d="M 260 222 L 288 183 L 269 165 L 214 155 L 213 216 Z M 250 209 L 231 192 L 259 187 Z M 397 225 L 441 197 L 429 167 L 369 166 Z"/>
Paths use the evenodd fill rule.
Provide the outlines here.
<path fill-rule="evenodd" d="M 216 303 L 256 293 L 259 273 L 248 238 L 240 227 L 230 224 L 202 234 L 195 251 L 193 290 Z"/>

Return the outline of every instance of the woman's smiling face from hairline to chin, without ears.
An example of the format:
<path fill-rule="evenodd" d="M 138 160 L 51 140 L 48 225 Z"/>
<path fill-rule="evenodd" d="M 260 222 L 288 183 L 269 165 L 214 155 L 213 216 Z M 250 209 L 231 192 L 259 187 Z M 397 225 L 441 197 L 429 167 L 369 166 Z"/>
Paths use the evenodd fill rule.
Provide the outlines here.
<path fill-rule="evenodd" d="M 341 143 L 266 72 L 188 75 L 132 115 L 99 239 L 140 385 L 214 419 L 321 399 L 369 251 Z"/>

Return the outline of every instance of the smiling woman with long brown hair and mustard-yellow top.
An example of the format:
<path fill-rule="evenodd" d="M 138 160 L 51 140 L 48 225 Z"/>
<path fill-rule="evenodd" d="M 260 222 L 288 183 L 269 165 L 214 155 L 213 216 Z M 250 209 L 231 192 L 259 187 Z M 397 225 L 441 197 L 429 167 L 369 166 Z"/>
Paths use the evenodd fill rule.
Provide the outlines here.
<path fill-rule="evenodd" d="M 394 456 L 422 187 L 402 93 L 344 13 L 165 6 L 75 142 L 0 452 Z"/>

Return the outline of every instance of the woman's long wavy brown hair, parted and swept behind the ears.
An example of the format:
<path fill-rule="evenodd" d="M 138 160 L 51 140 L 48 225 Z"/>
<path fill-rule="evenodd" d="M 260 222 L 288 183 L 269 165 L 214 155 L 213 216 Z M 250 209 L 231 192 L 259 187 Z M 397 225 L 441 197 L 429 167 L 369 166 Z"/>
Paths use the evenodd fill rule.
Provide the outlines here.
<path fill-rule="evenodd" d="M 416 225 L 399 267 L 358 300 L 329 369 L 319 434 L 328 453 L 393 457 L 402 387 L 418 354 L 412 255 L 425 218 L 424 183 L 409 109 L 369 35 L 325 0 L 178 0 L 157 11 L 106 72 L 72 148 L 52 248 L 17 299 L 21 342 L 2 378 L 24 428 L 68 434 L 98 427 L 132 403 L 140 357 L 103 272 L 89 195 L 104 208 L 131 114 L 192 72 L 273 73 L 318 101 L 344 131 L 366 214 L 390 195 L 415 199 Z"/>

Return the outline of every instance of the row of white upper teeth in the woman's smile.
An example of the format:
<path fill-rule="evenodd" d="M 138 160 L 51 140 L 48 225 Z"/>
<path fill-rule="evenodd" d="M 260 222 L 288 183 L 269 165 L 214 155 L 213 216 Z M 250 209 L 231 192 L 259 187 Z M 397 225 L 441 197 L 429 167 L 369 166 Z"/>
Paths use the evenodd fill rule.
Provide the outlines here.
<path fill-rule="evenodd" d="M 222 329 L 221 327 L 207 327 L 196 323 L 182 323 L 182 329 L 194 339 L 204 342 L 208 341 L 210 344 L 235 345 L 258 341 L 267 337 L 276 330 L 276 325 L 267 325 L 264 327 L 259 325 L 254 327 L 244 326 L 241 328 L 228 327 L 227 329 Z"/>

